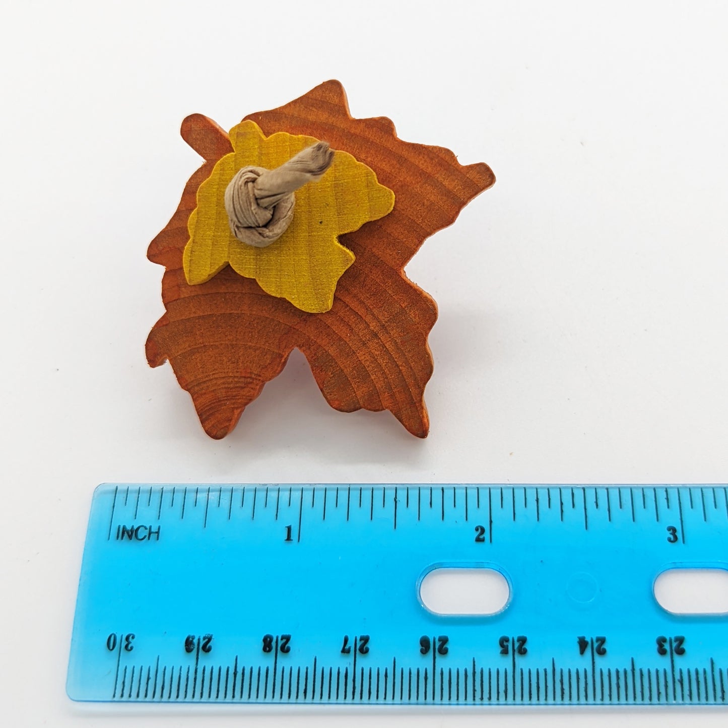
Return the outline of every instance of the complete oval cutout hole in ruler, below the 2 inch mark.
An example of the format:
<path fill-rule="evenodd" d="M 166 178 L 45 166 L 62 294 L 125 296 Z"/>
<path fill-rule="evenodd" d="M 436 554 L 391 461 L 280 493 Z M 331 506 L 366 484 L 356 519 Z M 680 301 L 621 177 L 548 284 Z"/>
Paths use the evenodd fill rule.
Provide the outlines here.
<path fill-rule="evenodd" d="M 419 598 L 433 614 L 488 617 L 505 609 L 510 587 L 488 566 L 439 566 L 424 575 Z"/>

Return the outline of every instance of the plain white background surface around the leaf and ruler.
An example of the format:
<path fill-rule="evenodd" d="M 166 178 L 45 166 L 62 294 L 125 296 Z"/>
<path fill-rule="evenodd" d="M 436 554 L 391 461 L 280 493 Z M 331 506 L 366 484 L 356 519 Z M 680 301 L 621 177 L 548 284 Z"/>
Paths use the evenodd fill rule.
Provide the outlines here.
<path fill-rule="evenodd" d="M 92 488 L 725 482 L 728 14 L 719 2 L 9 2 L 0 21 L 0 691 L 8 726 L 724 725 L 713 711 L 88 708 L 64 681 Z M 430 438 L 339 414 L 294 353 L 206 437 L 144 341 L 146 247 L 229 128 L 329 78 L 496 186 L 410 277 L 440 306 Z"/>

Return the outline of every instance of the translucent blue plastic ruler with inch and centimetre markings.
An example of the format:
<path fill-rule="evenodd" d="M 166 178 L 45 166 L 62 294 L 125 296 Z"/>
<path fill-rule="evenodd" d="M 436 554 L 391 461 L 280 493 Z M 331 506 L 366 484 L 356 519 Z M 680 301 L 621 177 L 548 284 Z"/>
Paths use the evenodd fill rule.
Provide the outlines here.
<path fill-rule="evenodd" d="M 728 616 L 653 583 L 728 568 L 724 486 L 150 486 L 95 491 L 74 700 L 723 705 Z M 487 617 L 419 599 L 436 566 L 510 585 Z"/>

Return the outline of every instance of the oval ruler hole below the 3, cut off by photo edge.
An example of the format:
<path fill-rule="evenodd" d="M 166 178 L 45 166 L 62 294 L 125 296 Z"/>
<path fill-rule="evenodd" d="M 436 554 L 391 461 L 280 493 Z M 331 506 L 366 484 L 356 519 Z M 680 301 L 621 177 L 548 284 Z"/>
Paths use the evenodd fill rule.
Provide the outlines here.
<path fill-rule="evenodd" d="M 654 598 L 672 614 L 728 614 L 728 571 L 719 567 L 662 571 L 654 581 Z"/>

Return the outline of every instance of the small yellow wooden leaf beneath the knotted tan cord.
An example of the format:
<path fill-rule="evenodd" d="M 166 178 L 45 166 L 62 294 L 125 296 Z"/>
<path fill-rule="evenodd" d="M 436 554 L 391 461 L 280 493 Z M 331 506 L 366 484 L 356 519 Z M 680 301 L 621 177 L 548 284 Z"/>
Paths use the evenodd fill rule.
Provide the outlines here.
<path fill-rule="evenodd" d="M 318 140 L 286 132 L 266 138 L 258 124 L 248 121 L 230 130 L 230 141 L 235 151 L 222 157 L 199 186 L 197 207 L 189 216 L 183 256 L 187 282 L 204 283 L 230 264 L 240 275 L 255 278 L 266 293 L 287 298 L 298 309 L 328 311 L 336 283 L 355 260 L 338 236 L 391 212 L 394 192 L 351 154 L 336 151 L 320 181 L 296 191 L 288 229 L 267 248 L 254 248 L 230 231 L 224 204 L 228 183 L 242 167 L 274 169 Z"/>

